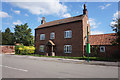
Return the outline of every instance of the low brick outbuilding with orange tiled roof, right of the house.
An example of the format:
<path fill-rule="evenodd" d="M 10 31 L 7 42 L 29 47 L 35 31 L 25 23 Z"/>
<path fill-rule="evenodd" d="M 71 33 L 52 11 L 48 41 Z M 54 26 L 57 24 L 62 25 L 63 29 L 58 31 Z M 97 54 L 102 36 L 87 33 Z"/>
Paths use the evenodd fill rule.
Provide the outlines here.
<path fill-rule="evenodd" d="M 91 45 L 90 56 L 114 57 L 114 55 L 120 52 L 119 51 L 120 46 L 112 45 L 112 41 L 114 41 L 115 39 L 116 33 L 90 35 L 89 36 L 89 43 Z M 97 55 L 95 54 L 95 49 Z M 87 55 L 86 51 L 85 55 Z"/>

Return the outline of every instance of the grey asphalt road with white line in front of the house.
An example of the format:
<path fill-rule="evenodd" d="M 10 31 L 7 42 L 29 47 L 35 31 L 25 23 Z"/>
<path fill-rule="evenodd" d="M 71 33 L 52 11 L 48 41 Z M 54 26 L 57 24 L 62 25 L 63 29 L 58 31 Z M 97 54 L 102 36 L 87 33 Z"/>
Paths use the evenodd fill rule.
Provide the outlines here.
<path fill-rule="evenodd" d="M 3 78 L 118 78 L 118 67 L 47 61 L 24 56 L 2 56 Z"/>

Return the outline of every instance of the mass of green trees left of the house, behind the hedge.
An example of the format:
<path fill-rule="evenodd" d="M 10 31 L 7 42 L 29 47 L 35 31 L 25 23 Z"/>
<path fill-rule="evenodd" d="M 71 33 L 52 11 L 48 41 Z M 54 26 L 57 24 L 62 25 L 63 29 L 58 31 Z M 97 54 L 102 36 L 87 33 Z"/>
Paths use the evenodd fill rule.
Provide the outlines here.
<path fill-rule="evenodd" d="M 2 32 L 3 45 L 14 45 L 14 42 L 22 43 L 26 46 L 34 45 L 31 29 L 28 29 L 27 23 L 24 25 L 15 25 L 14 30 L 15 32 L 12 33 L 10 28 L 6 28 L 5 32 Z"/>

